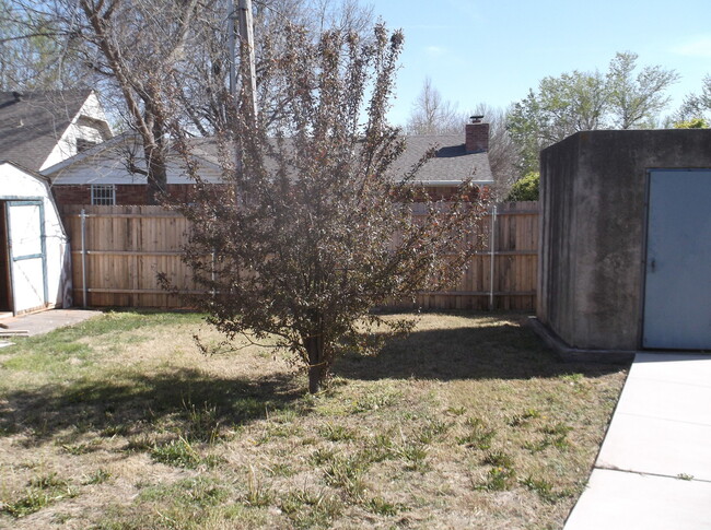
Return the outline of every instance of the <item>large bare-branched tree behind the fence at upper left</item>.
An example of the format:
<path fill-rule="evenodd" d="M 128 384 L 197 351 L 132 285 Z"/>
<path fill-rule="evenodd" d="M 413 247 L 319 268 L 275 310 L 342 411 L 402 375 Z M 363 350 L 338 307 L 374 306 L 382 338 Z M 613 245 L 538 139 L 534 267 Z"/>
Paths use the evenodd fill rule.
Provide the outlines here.
<path fill-rule="evenodd" d="M 109 114 L 120 118 L 119 128 L 137 133 L 142 156 L 135 150 L 121 155 L 131 173 L 147 177 L 148 203 L 159 202 L 166 190 L 170 137 L 162 116 L 179 116 L 190 134 L 230 128 L 226 120 L 234 102 L 228 93 L 226 1 L 1 1 L 12 8 L 8 19 L 18 36 L 12 43 L 25 47 L 37 38 L 48 43 L 50 49 L 43 57 L 54 64 L 55 76 L 98 89 Z M 260 109 L 273 121 L 284 105 L 283 91 L 270 76 L 275 57 L 283 51 L 283 27 L 296 20 L 312 32 L 325 24 L 362 31 L 372 12 L 357 0 L 255 3 L 257 92 Z M 61 68 L 66 61 L 58 60 L 60 54 L 68 52 L 81 69 Z M 163 109 L 167 106 L 170 110 Z"/>

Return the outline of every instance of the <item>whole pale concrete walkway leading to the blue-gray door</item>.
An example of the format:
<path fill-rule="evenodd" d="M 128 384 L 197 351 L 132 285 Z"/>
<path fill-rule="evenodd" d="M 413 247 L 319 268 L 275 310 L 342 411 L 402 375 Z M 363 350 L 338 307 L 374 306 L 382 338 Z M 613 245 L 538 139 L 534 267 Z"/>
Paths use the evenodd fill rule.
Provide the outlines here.
<path fill-rule="evenodd" d="M 564 530 L 711 529 L 711 356 L 637 354 Z"/>

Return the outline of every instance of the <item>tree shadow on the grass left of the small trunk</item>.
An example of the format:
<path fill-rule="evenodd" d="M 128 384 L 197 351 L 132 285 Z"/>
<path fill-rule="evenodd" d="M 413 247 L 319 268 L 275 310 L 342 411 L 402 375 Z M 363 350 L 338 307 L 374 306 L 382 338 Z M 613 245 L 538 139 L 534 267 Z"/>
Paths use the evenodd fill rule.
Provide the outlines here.
<path fill-rule="evenodd" d="M 288 374 L 229 379 L 184 368 L 121 375 L 120 380 L 107 377 L 9 392 L 5 403 L 0 401 L 0 433 L 30 429 L 33 444 L 70 428 L 136 436 L 154 433 L 164 420 L 180 431 L 206 413 L 215 423 L 234 426 L 287 409 L 302 396 L 303 389 Z"/>

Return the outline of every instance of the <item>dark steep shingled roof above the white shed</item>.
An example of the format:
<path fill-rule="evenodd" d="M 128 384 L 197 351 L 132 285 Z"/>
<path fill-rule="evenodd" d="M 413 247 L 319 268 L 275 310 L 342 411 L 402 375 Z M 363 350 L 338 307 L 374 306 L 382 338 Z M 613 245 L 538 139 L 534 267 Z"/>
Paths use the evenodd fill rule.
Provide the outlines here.
<path fill-rule="evenodd" d="M 0 92 L 0 157 L 38 170 L 91 92 Z"/>

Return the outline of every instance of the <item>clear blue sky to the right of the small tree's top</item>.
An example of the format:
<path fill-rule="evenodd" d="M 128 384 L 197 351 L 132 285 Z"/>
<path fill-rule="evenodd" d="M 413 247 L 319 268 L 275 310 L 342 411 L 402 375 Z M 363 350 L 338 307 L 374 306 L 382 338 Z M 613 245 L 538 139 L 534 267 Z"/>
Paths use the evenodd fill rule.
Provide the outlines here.
<path fill-rule="evenodd" d="M 605 71 L 616 51 L 639 54 L 681 80 L 672 113 L 711 74 L 711 0 L 380 0 L 376 15 L 405 32 L 397 98 L 404 123 L 429 75 L 445 99 L 468 111 L 505 107 L 546 75 Z"/>

